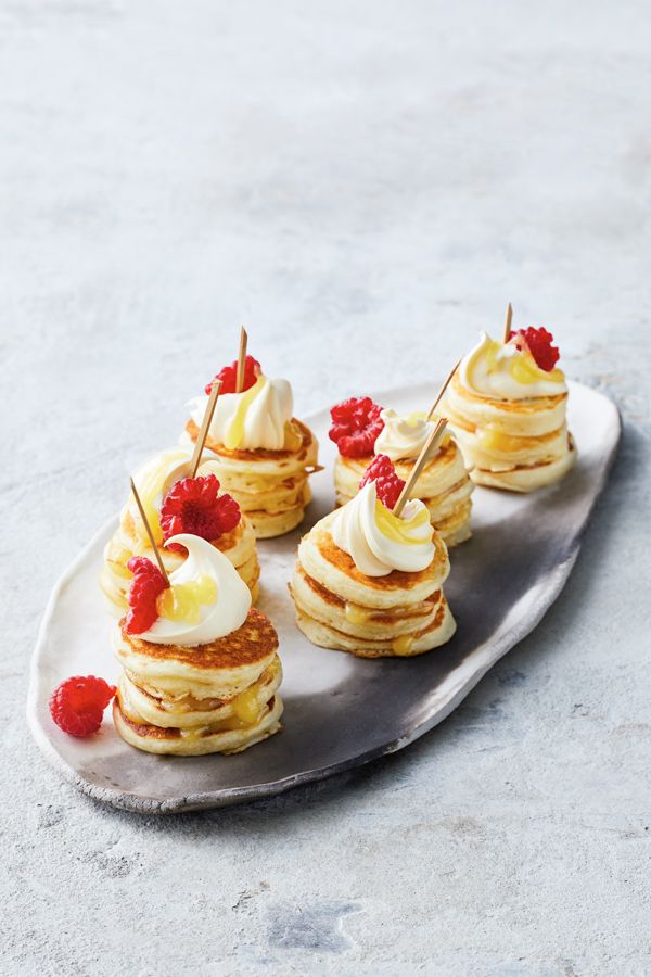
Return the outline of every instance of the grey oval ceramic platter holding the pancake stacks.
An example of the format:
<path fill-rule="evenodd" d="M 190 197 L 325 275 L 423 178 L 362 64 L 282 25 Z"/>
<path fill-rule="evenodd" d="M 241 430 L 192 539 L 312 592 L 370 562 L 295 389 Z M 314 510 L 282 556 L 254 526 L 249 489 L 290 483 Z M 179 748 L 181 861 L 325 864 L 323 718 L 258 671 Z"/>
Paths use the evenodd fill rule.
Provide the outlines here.
<path fill-rule="evenodd" d="M 435 384 L 381 392 L 398 410 L 422 409 Z M 321 443 L 326 470 L 302 531 L 332 508 L 334 446 L 329 413 L 305 418 Z M 474 493 L 471 541 L 451 551 L 446 594 L 458 631 L 442 649 L 413 659 L 366 660 L 316 648 L 297 631 L 286 581 L 299 533 L 258 544 L 260 608 L 273 620 L 284 667 L 284 729 L 234 757 L 163 758 L 117 736 L 110 710 L 100 733 L 77 740 L 51 721 L 48 698 L 68 675 L 115 681 L 114 626 L 98 586 L 105 525 L 56 584 L 34 651 L 27 715 L 58 771 L 100 801 L 140 813 L 242 803 L 318 781 L 400 750 L 445 719 L 487 670 L 528 634 L 561 591 L 580 546 L 620 440 L 616 407 L 573 383 L 570 427 L 578 462 L 563 482 L 529 496 Z"/>

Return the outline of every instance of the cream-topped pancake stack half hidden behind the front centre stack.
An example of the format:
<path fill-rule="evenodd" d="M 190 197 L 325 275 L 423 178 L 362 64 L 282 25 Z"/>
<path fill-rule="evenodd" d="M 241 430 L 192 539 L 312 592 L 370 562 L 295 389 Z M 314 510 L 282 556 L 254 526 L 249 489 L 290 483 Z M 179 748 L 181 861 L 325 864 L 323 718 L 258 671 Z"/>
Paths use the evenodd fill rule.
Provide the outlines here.
<path fill-rule="evenodd" d="M 344 405 L 340 404 L 333 408 L 333 420 L 342 406 Z M 399 417 L 393 410 L 382 409 L 379 418 L 384 427 L 374 441 L 373 452 L 391 458 L 396 473 L 406 481 L 437 418 L 427 420 L 424 414 Z M 333 440 L 333 432 L 336 431 L 335 422 L 330 435 Z M 342 447 L 348 454 L 343 454 Z M 359 482 L 373 460 L 372 454 L 350 456 L 349 452 L 355 451 L 355 443 L 349 437 L 343 440 L 342 447 L 334 462 L 334 488 L 339 506 L 357 495 Z M 470 515 L 473 487 L 457 442 L 447 433 L 438 451 L 422 469 L 413 486 L 413 497 L 424 503 L 432 524 L 448 548 L 463 543 L 472 534 Z"/>

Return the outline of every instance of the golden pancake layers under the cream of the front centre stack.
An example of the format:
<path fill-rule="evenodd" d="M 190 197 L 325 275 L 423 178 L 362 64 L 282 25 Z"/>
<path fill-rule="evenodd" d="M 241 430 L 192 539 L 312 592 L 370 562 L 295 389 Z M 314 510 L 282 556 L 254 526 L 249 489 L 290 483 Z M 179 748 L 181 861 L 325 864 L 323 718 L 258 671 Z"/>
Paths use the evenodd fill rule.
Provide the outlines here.
<path fill-rule="evenodd" d="M 370 578 L 334 544 L 329 525 L 336 515 L 298 547 L 290 592 L 306 637 L 361 658 L 421 655 L 449 640 L 457 625 L 441 588 L 449 573 L 442 540 L 435 536 L 436 555 L 425 570 Z"/>

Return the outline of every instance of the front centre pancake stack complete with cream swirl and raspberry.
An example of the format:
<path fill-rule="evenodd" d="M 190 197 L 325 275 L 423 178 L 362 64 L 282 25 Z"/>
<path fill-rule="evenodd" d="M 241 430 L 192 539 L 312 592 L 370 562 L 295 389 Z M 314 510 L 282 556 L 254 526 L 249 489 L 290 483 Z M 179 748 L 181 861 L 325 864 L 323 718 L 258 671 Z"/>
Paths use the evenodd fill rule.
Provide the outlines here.
<path fill-rule="evenodd" d="M 393 513 L 405 483 L 388 458 L 378 456 L 367 477 L 354 499 L 301 541 L 290 584 L 296 623 L 323 648 L 362 658 L 421 655 L 456 630 L 442 589 L 447 548 L 422 502 L 407 503 L 401 518 Z"/>

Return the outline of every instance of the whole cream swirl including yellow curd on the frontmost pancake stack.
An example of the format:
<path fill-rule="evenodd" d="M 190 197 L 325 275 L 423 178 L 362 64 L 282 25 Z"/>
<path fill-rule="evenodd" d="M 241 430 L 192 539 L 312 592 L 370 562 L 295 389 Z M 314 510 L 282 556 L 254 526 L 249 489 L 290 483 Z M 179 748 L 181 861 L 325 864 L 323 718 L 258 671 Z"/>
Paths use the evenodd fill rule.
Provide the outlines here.
<path fill-rule="evenodd" d="M 139 638 L 155 645 L 205 645 L 242 626 L 251 608 L 251 591 L 222 553 L 191 533 L 171 536 L 188 550 L 158 595 L 159 617 Z"/>

